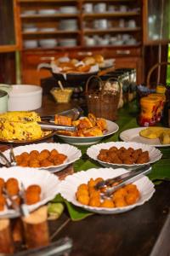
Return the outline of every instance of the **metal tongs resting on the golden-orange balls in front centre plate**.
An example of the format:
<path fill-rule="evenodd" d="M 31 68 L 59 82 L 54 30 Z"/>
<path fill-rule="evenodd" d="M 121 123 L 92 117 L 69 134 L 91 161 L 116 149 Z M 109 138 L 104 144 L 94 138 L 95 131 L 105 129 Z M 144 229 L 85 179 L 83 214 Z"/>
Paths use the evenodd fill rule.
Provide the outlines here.
<path fill-rule="evenodd" d="M 131 172 L 123 173 L 120 176 L 113 177 L 101 181 L 95 185 L 95 189 L 107 188 L 104 192 L 106 197 L 111 196 L 117 189 L 121 189 L 123 186 L 133 183 L 138 180 L 144 174 L 151 172 L 152 167 L 150 165 L 139 168 L 138 170 L 133 170 Z"/>

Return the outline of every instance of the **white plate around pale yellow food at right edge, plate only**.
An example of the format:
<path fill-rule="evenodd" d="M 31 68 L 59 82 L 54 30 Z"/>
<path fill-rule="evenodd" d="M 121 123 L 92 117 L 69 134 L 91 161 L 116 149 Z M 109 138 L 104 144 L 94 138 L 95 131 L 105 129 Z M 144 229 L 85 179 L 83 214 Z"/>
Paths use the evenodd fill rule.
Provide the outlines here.
<path fill-rule="evenodd" d="M 139 135 L 139 131 L 146 129 L 147 127 L 139 127 L 133 128 L 126 131 L 122 131 L 120 133 L 120 138 L 124 142 L 133 142 L 133 143 L 144 143 L 147 145 L 155 146 L 155 147 L 169 147 L 170 144 L 161 144 L 159 138 L 156 139 L 148 139 L 145 137 L 141 137 Z M 169 129 L 169 128 L 167 128 Z"/>

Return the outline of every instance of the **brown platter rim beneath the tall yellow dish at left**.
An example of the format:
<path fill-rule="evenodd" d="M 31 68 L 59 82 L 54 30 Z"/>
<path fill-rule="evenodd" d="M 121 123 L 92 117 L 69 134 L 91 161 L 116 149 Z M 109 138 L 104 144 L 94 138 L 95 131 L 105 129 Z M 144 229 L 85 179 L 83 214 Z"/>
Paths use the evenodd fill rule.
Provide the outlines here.
<path fill-rule="evenodd" d="M 14 143 L 14 144 L 29 144 L 29 143 L 38 143 L 46 140 L 55 135 L 56 131 L 42 131 L 42 137 L 37 139 L 27 139 L 27 140 L 4 140 L 0 138 L 0 143 Z"/>

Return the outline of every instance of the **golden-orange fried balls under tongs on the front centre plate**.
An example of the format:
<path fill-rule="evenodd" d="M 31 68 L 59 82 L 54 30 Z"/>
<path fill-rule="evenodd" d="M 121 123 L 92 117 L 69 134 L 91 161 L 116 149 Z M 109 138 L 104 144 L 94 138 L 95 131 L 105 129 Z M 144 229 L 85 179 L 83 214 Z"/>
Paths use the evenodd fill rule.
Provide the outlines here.
<path fill-rule="evenodd" d="M 82 183 L 77 188 L 77 201 L 82 205 L 87 205 L 89 207 L 127 207 L 128 205 L 133 205 L 139 200 L 139 189 L 135 184 L 128 184 L 122 189 L 116 190 L 110 198 L 102 199 L 102 193 L 104 189 L 95 189 L 95 185 L 102 181 L 103 178 L 98 177 L 95 180 L 91 178 L 88 184 Z"/>

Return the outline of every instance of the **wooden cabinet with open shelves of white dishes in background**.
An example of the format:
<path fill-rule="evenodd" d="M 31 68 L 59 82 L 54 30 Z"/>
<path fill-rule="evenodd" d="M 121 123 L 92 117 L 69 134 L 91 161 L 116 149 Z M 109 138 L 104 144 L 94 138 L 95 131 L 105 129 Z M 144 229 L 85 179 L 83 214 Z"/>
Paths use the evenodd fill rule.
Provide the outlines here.
<path fill-rule="evenodd" d="M 40 84 L 50 75 L 37 71 L 48 57 L 103 54 L 116 67 L 142 74 L 142 2 L 139 0 L 18 0 L 22 79 Z"/>

